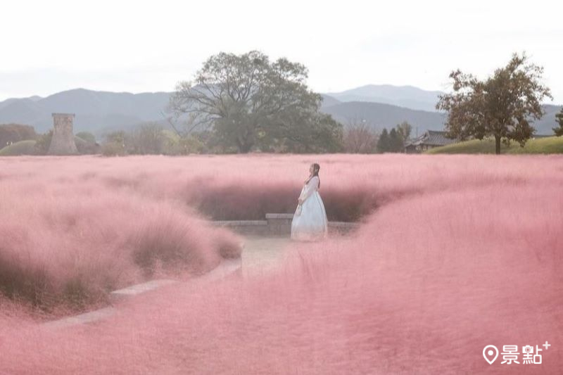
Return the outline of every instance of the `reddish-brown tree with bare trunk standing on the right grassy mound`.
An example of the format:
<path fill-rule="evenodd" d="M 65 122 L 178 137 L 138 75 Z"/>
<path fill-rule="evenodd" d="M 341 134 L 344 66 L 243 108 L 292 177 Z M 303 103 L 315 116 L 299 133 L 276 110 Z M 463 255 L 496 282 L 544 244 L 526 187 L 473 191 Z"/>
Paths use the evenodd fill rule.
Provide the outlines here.
<path fill-rule="evenodd" d="M 486 80 L 460 70 L 452 72 L 453 93 L 441 95 L 436 104 L 438 110 L 448 112 L 448 135 L 462 140 L 494 136 L 497 154 L 501 140 L 524 146 L 535 132 L 531 122 L 544 114 L 541 101 L 552 97 L 541 83 L 542 75 L 543 68 L 529 63 L 525 53 L 514 53 L 505 67 Z"/>

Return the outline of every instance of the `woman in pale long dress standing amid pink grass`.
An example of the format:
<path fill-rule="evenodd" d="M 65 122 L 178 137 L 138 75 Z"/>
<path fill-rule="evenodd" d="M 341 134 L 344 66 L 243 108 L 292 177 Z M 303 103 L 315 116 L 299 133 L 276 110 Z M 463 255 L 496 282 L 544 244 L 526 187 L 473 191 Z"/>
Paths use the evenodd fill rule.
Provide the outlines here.
<path fill-rule="evenodd" d="M 291 222 L 291 239 L 317 241 L 327 237 L 328 220 L 319 194 L 320 166 L 315 163 L 309 168 L 309 178 L 301 189 L 298 205 Z"/>

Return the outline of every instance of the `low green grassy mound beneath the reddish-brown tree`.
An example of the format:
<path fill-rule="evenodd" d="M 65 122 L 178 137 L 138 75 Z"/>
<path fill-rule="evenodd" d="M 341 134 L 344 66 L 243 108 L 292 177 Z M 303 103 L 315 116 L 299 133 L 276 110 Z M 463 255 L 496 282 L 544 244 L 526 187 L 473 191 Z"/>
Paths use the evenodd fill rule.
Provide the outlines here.
<path fill-rule="evenodd" d="M 472 139 L 456 144 L 432 148 L 426 153 L 495 153 L 495 139 L 486 137 L 482 140 Z M 524 147 L 519 144 L 502 144 L 500 153 L 505 154 L 529 154 L 529 153 L 563 153 L 563 138 L 549 136 L 545 138 L 530 139 Z"/>

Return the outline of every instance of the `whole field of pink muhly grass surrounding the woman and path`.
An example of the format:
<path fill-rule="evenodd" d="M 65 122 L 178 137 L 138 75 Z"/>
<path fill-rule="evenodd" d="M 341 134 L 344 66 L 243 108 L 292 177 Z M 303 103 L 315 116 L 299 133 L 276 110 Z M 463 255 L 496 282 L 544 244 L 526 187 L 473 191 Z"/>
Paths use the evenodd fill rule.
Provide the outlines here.
<path fill-rule="evenodd" d="M 220 231 L 230 245 L 217 244 L 200 215 L 292 212 L 312 162 L 327 214 L 360 220 L 357 232 L 293 244 L 272 272 L 168 286 L 90 326 L 46 330 L 5 298 L 0 374 L 561 374 L 555 155 L 0 158 L 0 267 L 125 283 L 146 277 L 129 255 L 172 238 L 203 272 L 237 239 Z M 518 345 L 520 364 L 486 363 L 489 344 Z M 522 364 L 524 345 L 543 363 Z"/>

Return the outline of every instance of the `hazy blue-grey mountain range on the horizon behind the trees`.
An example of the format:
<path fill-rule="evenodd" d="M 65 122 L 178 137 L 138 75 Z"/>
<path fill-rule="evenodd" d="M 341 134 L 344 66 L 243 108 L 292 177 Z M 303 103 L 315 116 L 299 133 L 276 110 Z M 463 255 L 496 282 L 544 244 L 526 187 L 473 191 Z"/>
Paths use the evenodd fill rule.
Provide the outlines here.
<path fill-rule="evenodd" d="M 323 94 L 321 110 L 347 126 L 364 122 L 373 129 L 391 128 L 403 121 L 422 134 L 443 129 L 445 115 L 434 109 L 440 91 L 417 87 L 369 85 L 340 93 Z M 116 93 L 74 89 L 45 98 L 11 98 L 0 102 L 0 124 L 32 125 L 37 132 L 51 129 L 51 113 L 75 113 L 75 132 L 88 131 L 101 136 L 115 129 L 129 129 L 146 122 L 166 124 L 163 112 L 170 93 Z M 546 105 L 546 115 L 534 126 L 537 134 L 552 134 L 555 113 L 560 106 Z M 414 134 L 413 134 L 414 135 Z"/>

